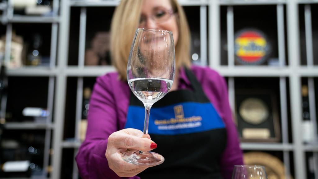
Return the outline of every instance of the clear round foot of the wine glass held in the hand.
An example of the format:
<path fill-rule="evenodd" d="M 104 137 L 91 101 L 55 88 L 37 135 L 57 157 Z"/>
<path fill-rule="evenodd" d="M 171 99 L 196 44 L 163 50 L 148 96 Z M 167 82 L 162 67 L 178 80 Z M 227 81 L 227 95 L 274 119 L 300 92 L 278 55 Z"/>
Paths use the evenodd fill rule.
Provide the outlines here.
<path fill-rule="evenodd" d="M 164 162 L 162 155 L 155 152 L 139 153 L 138 150 L 132 150 L 122 154 L 122 158 L 128 163 L 135 165 L 156 166 Z"/>

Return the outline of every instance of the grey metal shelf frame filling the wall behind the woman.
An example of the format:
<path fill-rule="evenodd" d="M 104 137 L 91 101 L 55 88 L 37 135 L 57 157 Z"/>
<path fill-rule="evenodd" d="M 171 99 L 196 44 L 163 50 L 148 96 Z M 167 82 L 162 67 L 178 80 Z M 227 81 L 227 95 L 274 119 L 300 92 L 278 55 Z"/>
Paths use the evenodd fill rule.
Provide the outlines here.
<path fill-rule="evenodd" d="M 81 144 L 79 141 L 79 123 L 82 111 L 82 96 L 84 77 L 93 77 L 104 75 L 108 72 L 114 72 L 113 66 L 88 67 L 84 65 L 85 40 L 86 40 L 86 19 L 87 7 L 115 7 L 119 0 L 104 0 L 89 2 L 87 0 L 53 0 L 53 18 L 33 18 L 14 16 L 13 8 L 8 2 L 6 10 L 3 10 L 2 22 L 6 23 L 6 44 L 4 63 L 9 65 L 12 24 L 13 23 L 51 23 L 51 61 L 49 67 L 32 68 L 23 67 L 19 69 L 9 69 L 8 76 L 47 76 L 49 80 L 48 88 L 48 109 L 52 111 L 44 125 L 7 123 L 6 128 L 17 129 L 43 129 L 45 130 L 45 157 L 44 166 L 53 166 L 53 172 L 50 175 L 52 179 L 58 179 L 61 176 L 61 159 L 63 148 L 73 148 L 74 156 Z M 200 53 L 201 65 L 209 65 L 210 68 L 217 70 L 221 75 L 229 77 L 229 101 L 233 109 L 235 104 L 235 77 L 277 77 L 280 79 L 280 109 L 281 109 L 281 143 L 241 143 L 244 150 L 269 150 L 282 151 L 283 160 L 286 165 L 286 175 L 290 173 L 290 152 L 293 152 L 295 176 L 294 178 L 306 178 L 305 152 L 313 152 L 314 160 L 318 161 L 318 144 L 307 145 L 302 141 L 302 131 L 300 126 L 301 117 L 301 77 L 308 77 L 309 96 L 314 99 L 314 77 L 318 77 L 318 66 L 313 65 L 312 48 L 312 27 L 310 4 L 317 4 L 318 0 L 179 0 L 183 6 L 200 7 Z M 305 5 L 305 31 L 306 31 L 306 54 L 307 66 L 300 65 L 299 50 L 299 25 L 298 25 L 298 7 L 299 4 Z M 0 4 L 4 7 L 6 4 Z M 235 66 L 234 65 L 234 18 L 235 12 L 233 6 L 237 5 L 276 5 L 277 9 L 277 34 L 278 34 L 278 54 L 279 66 Z M 228 39 L 228 65 L 220 65 L 220 6 L 227 6 L 227 39 Z M 287 26 L 284 26 L 284 6 L 286 6 Z M 79 65 L 68 66 L 68 46 L 70 29 L 70 9 L 71 7 L 80 7 L 80 26 L 79 26 Z M 60 14 L 58 14 L 60 12 Z M 208 21 L 206 20 L 208 18 Z M 207 28 L 208 27 L 208 28 Z M 287 29 L 288 42 L 288 65 L 285 64 L 285 28 Z M 209 38 L 207 38 L 209 37 Z M 209 48 L 208 48 L 209 47 Z M 308 48 L 309 47 L 309 48 Z M 57 53 L 59 52 L 59 53 Z M 209 57 L 207 56 L 209 52 Z M 63 129 L 65 121 L 65 103 L 66 103 L 66 82 L 67 77 L 78 77 L 77 96 L 76 96 L 76 117 L 75 117 L 75 140 L 63 141 Z M 287 80 L 290 90 L 290 104 L 287 104 Z M 54 104 L 53 104 L 54 101 Z M 54 106 L 53 106 L 54 105 Z M 287 105 L 291 108 L 291 126 L 288 131 Z M 315 101 L 310 101 L 310 117 L 316 119 Z M 54 120 L 52 118 L 54 114 Z M 54 122 L 52 122 L 54 121 Z M 317 130 L 317 129 L 315 129 Z M 293 143 L 288 141 L 288 133 L 292 134 Z M 52 141 L 49 139 L 52 136 Z M 51 143 L 52 142 L 52 143 Z M 54 155 L 49 163 L 49 149 L 54 149 Z M 316 166 L 317 167 L 317 166 Z M 318 171 L 318 168 L 315 169 Z M 43 171 L 43 176 L 47 173 Z M 316 172 L 316 175 L 318 173 Z M 73 163 L 73 178 L 78 178 L 77 166 Z"/>

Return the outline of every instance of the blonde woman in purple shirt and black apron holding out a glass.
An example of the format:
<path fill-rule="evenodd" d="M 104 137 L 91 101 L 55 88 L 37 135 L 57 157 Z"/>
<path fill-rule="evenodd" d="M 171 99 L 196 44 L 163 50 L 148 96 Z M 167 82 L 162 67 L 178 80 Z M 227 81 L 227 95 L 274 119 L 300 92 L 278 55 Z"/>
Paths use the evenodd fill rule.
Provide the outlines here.
<path fill-rule="evenodd" d="M 131 106 L 138 106 L 139 100 L 130 91 L 126 76 L 129 51 L 137 27 L 173 33 L 175 80 L 172 92 L 156 104 L 169 104 L 172 113 L 175 110 L 178 114 L 166 119 L 196 117 L 208 122 L 211 125 L 209 130 L 201 130 L 202 126 L 197 126 L 199 132 L 170 131 L 175 135 L 149 131 L 150 138 L 133 129 L 138 128 L 134 124 L 144 118 L 144 113 L 131 110 Z M 86 140 L 76 156 L 81 176 L 231 178 L 233 166 L 243 161 L 226 83 L 210 68 L 191 66 L 189 27 L 177 0 L 121 0 L 114 13 L 111 34 L 111 55 L 118 72 L 101 76 L 95 83 Z M 154 121 L 150 123 L 156 125 Z M 157 144 L 159 147 L 155 149 Z M 151 168 L 129 164 L 121 158 L 128 149 L 155 149 L 154 152 L 165 157 L 165 162 Z"/>

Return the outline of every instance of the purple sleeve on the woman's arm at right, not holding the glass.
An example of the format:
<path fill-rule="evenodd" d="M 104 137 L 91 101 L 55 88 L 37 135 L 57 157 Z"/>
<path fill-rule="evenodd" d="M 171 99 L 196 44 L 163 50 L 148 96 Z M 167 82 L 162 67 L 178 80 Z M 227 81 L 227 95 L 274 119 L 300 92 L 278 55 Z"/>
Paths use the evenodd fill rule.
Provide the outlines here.
<path fill-rule="evenodd" d="M 225 79 L 216 71 L 204 68 L 197 77 L 213 106 L 225 123 L 227 134 L 226 148 L 220 157 L 220 169 L 224 179 L 231 179 L 234 165 L 243 164 L 243 154 L 239 146 L 239 137 L 232 120 L 232 111 L 229 104 Z"/>

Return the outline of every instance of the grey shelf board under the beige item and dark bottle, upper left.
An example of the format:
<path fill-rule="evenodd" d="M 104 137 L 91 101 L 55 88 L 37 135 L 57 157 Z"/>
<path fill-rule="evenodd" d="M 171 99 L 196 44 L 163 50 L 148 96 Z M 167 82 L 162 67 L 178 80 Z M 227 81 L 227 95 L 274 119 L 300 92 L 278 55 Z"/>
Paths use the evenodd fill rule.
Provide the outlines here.
<path fill-rule="evenodd" d="M 58 70 L 49 67 L 22 67 L 16 69 L 7 69 L 8 76 L 54 76 Z"/>

